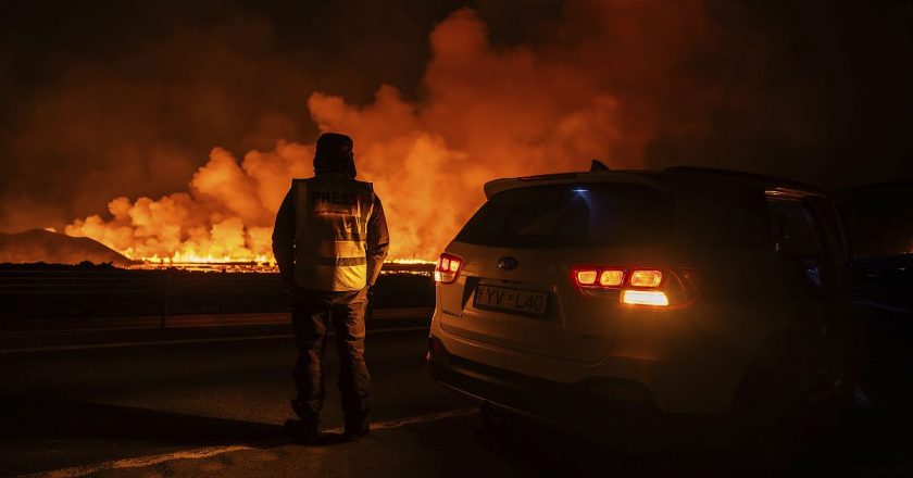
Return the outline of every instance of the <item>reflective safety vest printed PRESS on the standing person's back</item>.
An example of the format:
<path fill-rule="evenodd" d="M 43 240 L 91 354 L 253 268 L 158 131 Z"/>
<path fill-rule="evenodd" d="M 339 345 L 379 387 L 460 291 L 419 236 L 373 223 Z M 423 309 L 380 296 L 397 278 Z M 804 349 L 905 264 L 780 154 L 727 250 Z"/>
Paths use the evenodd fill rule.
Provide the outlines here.
<path fill-rule="evenodd" d="M 295 179 L 295 282 L 310 290 L 351 291 L 367 285 L 371 183 L 324 173 Z"/>

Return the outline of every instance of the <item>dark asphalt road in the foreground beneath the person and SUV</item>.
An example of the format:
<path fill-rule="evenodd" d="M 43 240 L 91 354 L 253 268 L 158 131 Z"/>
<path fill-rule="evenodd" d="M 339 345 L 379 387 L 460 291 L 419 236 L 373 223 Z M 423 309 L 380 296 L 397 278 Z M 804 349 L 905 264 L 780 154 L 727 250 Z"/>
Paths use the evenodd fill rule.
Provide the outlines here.
<path fill-rule="evenodd" d="M 422 329 L 370 332 L 374 427 L 355 443 L 339 439 L 335 351 L 328 350 L 327 433 L 318 446 L 280 435 L 290 417 L 296 354 L 287 338 L 3 354 L 0 475 L 742 474 L 739 455 L 714 448 L 645 452 L 528 424 L 484 429 L 472 404 L 427 378 L 425 347 Z M 903 476 L 911 470 L 910 435 L 908 423 L 858 410 L 777 471 Z"/>

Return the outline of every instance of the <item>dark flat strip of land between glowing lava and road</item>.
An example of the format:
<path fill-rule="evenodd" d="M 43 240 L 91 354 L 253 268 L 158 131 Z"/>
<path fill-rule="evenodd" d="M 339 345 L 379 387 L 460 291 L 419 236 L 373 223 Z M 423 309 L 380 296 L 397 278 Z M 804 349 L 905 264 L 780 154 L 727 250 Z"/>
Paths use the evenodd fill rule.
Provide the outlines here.
<path fill-rule="evenodd" d="M 387 275 L 372 305 L 434 305 L 429 277 Z M 120 268 L 0 269 L 0 320 L 289 312 L 277 274 Z"/>

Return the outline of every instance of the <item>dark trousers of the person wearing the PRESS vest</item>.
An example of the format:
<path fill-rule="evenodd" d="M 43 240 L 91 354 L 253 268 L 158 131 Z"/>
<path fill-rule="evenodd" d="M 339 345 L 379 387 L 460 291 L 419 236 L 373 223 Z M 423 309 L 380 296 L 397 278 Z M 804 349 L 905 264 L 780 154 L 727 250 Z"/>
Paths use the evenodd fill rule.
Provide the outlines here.
<path fill-rule="evenodd" d="M 323 352 L 326 348 L 326 326 L 329 320 L 336 330 L 339 354 L 339 393 L 347 419 L 367 415 L 371 375 L 364 363 L 364 312 L 367 289 L 352 292 L 320 292 L 299 290 L 292 304 L 291 323 L 298 345 L 295 364 L 295 385 L 298 397 L 292 406 L 301 419 L 316 419 L 323 408 Z"/>

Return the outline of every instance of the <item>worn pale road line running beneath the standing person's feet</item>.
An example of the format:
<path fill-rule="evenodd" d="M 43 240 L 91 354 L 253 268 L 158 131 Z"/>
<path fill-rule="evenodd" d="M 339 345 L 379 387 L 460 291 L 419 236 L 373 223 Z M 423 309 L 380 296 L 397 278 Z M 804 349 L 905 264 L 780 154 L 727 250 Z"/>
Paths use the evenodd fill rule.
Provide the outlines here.
<path fill-rule="evenodd" d="M 418 425 L 418 424 L 427 424 L 432 422 L 437 422 L 443 418 L 454 418 L 454 417 L 463 417 L 470 416 L 478 412 L 478 408 L 475 406 L 466 407 L 466 408 L 455 408 L 455 410 L 448 410 L 443 412 L 437 413 L 428 413 L 424 415 L 416 415 L 405 418 L 395 418 L 389 420 L 379 420 L 379 422 L 372 422 L 371 423 L 371 430 L 385 430 L 390 428 L 399 428 L 405 427 L 409 425 Z M 341 428 L 333 428 L 329 430 L 324 430 L 324 432 L 329 433 L 341 433 Z M 113 462 L 104 462 L 99 463 L 96 465 L 86 465 L 86 466 L 74 466 L 72 468 L 61 468 L 51 471 L 42 471 L 36 473 L 32 475 L 24 475 L 22 478 L 32 478 L 32 477 L 45 477 L 45 478 L 76 478 L 86 475 L 93 475 L 101 471 L 111 471 L 115 469 L 129 469 L 129 468 L 146 468 L 149 466 L 154 466 L 161 463 L 172 462 L 176 460 L 203 460 L 203 458 L 211 458 L 213 456 L 224 455 L 225 453 L 233 453 L 239 452 L 245 450 L 254 450 L 254 449 L 268 449 L 275 446 L 282 446 L 285 444 L 292 443 L 289 439 L 277 439 L 271 441 L 263 441 L 259 443 L 251 443 L 251 444 L 232 444 L 225 446 L 209 446 L 209 448 L 201 448 L 196 450 L 182 450 L 174 453 L 165 453 L 161 455 L 151 455 L 151 456 L 140 456 L 136 458 L 124 458 L 124 460 L 116 460 Z"/>

